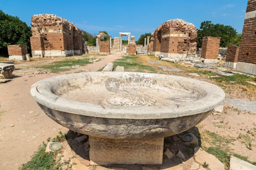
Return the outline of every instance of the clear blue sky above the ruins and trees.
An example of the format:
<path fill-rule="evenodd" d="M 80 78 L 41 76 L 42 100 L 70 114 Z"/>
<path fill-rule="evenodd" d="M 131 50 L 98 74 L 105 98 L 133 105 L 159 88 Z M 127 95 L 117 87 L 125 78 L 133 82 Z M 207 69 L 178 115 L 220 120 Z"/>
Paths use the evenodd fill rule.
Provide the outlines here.
<path fill-rule="evenodd" d="M 18 16 L 28 26 L 34 14 L 55 14 L 92 34 L 107 31 L 113 38 L 119 36 L 119 32 L 131 32 L 135 40 L 176 18 L 193 23 L 196 28 L 210 20 L 242 33 L 246 6 L 246 0 L 0 0 L 0 10 Z"/>

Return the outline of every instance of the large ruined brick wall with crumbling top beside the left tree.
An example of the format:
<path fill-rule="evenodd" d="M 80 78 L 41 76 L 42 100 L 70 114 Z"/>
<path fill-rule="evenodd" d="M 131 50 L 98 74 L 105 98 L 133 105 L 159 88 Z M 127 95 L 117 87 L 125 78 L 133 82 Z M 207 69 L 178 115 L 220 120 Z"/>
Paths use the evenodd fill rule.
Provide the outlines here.
<path fill-rule="evenodd" d="M 32 16 L 32 57 L 65 57 L 85 53 L 83 32 L 54 14 Z"/>

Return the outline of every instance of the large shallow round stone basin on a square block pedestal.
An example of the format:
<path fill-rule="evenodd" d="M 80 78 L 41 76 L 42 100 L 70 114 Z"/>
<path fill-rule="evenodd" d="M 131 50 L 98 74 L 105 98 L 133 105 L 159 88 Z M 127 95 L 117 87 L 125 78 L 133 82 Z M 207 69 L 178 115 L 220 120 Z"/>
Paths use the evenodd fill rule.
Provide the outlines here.
<path fill-rule="evenodd" d="M 208 82 L 136 72 L 88 72 L 51 77 L 32 85 L 31 95 L 55 122 L 89 135 L 90 158 L 94 155 L 94 164 L 161 164 L 163 151 L 159 150 L 163 148 L 163 138 L 200 123 L 225 98 L 221 88 Z M 126 142 L 132 145 L 132 141 L 143 141 L 146 147 L 155 142 L 150 148 L 159 151 L 158 161 L 97 160 L 97 153 L 104 153 L 92 151 L 93 146 L 96 147 L 93 143 L 103 146 L 107 140 L 123 141 L 126 146 Z M 109 145 L 109 141 L 105 145 Z M 139 157 L 142 156 L 145 155 Z"/>

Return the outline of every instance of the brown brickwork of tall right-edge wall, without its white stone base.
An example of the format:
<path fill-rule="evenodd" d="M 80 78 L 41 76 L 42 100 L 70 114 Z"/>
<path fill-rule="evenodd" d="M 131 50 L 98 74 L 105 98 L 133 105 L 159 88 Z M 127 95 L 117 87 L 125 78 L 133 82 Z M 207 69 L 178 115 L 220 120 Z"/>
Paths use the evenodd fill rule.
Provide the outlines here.
<path fill-rule="evenodd" d="M 246 12 L 256 10 L 256 1 L 249 0 Z M 243 25 L 241 45 L 239 48 L 238 61 L 256 64 L 256 18 L 246 17 Z"/>

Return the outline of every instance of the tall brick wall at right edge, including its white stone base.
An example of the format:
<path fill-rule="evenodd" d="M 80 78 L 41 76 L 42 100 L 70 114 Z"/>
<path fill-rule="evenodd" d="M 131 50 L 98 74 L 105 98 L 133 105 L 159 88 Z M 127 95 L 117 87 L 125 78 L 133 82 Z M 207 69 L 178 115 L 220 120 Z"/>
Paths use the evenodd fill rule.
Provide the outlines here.
<path fill-rule="evenodd" d="M 247 4 L 241 45 L 239 47 L 238 63 L 235 70 L 256 75 L 256 1 L 249 0 Z"/>

